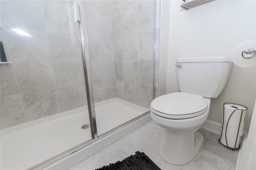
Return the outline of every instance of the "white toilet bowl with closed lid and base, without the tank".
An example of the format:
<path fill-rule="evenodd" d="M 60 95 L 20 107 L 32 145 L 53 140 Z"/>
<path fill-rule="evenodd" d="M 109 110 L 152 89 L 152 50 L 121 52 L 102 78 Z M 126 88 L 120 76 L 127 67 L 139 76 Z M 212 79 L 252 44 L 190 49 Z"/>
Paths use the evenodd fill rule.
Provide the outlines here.
<path fill-rule="evenodd" d="M 163 106 L 168 106 L 164 108 Z M 189 93 L 171 93 L 151 103 L 151 117 L 164 128 L 160 155 L 171 164 L 189 162 L 201 148 L 204 138 L 196 132 L 206 121 L 210 99 Z"/>

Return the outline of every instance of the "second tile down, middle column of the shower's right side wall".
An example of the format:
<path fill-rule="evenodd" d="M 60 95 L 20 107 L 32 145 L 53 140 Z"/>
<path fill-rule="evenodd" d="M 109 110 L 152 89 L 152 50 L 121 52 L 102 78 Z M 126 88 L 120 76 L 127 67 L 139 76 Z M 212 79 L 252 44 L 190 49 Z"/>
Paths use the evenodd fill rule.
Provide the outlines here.
<path fill-rule="evenodd" d="M 134 34 L 138 34 L 138 6 L 134 6 L 122 13 L 122 36 Z"/>

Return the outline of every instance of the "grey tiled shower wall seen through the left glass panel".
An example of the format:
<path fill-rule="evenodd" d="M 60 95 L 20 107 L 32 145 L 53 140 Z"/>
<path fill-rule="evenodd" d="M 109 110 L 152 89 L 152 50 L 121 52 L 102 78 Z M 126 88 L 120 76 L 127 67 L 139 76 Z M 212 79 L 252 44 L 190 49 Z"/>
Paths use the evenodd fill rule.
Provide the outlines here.
<path fill-rule="evenodd" d="M 69 4 L 0 3 L 0 39 L 11 62 L 0 66 L 1 129 L 86 105 L 78 28 Z"/>

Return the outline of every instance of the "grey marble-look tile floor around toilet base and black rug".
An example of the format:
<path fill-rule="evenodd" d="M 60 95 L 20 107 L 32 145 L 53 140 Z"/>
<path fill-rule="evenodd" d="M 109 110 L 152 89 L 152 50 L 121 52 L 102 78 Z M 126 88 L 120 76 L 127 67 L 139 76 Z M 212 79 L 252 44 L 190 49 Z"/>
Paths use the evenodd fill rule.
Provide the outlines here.
<path fill-rule="evenodd" d="M 123 160 L 144 152 L 162 170 L 234 170 L 238 151 L 232 151 L 218 142 L 218 135 L 199 129 L 204 136 L 204 144 L 196 156 L 187 164 L 176 166 L 169 164 L 159 154 L 162 128 L 153 121 L 114 142 L 100 152 L 80 162 L 70 170 L 94 170 L 109 163 Z"/>

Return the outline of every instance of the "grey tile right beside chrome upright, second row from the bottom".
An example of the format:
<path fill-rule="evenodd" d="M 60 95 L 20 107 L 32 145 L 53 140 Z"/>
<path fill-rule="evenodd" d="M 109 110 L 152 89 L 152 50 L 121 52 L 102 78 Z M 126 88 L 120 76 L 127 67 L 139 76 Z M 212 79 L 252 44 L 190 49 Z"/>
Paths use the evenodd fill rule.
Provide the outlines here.
<path fill-rule="evenodd" d="M 102 64 L 101 61 L 91 61 L 91 75 L 92 75 L 92 83 L 102 83 L 103 81 L 103 72 L 102 72 Z"/>

